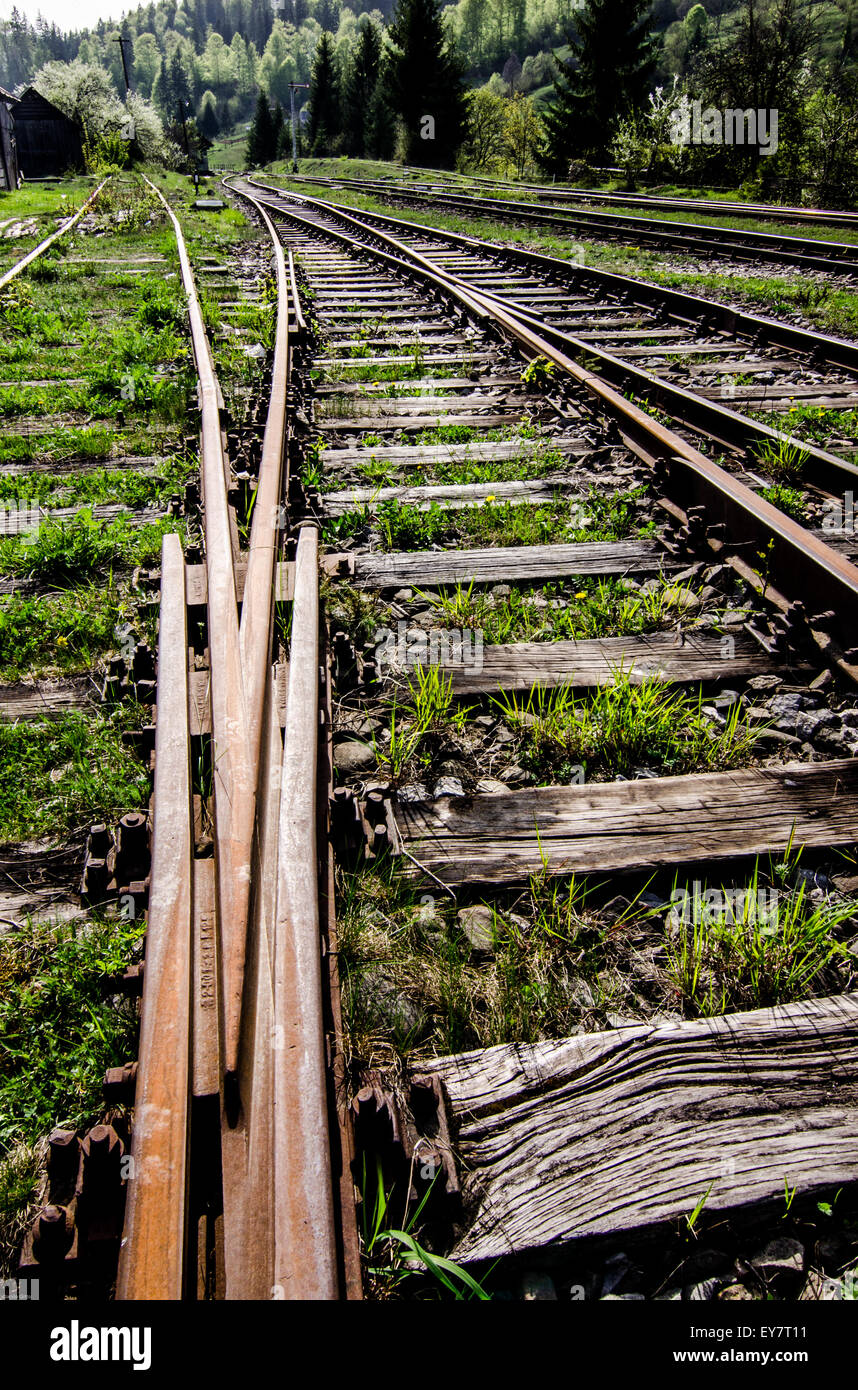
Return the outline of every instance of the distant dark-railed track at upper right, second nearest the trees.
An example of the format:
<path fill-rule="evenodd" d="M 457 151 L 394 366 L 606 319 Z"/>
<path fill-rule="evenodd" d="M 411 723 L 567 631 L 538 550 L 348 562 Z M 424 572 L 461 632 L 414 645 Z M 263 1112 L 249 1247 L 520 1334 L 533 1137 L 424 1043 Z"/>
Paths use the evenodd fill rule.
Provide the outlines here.
<path fill-rule="evenodd" d="M 752 264 L 777 264 L 801 270 L 832 271 L 852 277 L 858 272 L 858 249 L 847 242 L 825 242 L 816 238 L 776 235 L 773 232 L 738 231 L 706 222 L 662 222 L 654 225 L 651 217 L 623 213 L 599 213 L 592 208 L 572 208 L 549 204 L 538 206 L 521 199 L 487 197 L 476 193 L 452 192 L 449 186 L 394 185 L 367 179 L 324 179 L 292 175 L 293 183 L 324 183 L 331 189 L 353 189 L 375 193 L 391 203 L 406 207 L 441 208 L 469 217 L 489 217 L 517 225 L 538 225 L 560 231 L 566 236 L 597 236 L 612 242 L 638 246 L 659 246 L 674 252 L 736 259 Z"/>

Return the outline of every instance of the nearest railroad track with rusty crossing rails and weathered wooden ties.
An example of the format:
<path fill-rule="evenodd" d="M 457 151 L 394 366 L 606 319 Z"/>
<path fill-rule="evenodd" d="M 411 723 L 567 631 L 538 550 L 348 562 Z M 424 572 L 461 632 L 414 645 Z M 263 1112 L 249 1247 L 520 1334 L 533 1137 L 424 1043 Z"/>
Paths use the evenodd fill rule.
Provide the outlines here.
<path fill-rule="evenodd" d="M 248 181 L 234 190 L 273 239 L 273 385 L 236 473 L 174 220 L 206 553 L 189 566 L 164 541 L 118 1297 L 360 1297 L 384 1277 L 366 1222 L 374 1170 L 406 1232 L 420 1207 L 424 1245 L 477 1275 L 503 1261 L 501 1287 L 547 1255 L 574 1283 L 594 1241 L 663 1232 L 704 1194 L 738 1222 L 770 1211 L 784 1176 L 797 1209 L 848 1187 L 845 913 L 776 1006 L 730 997 L 697 1017 L 690 998 L 687 1017 L 629 1016 L 591 990 L 563 1015 L 574 1029 L 409 1056 L 389 1041 L 403 1002 L 378 967 L 356 980 L 334 908 L 335 870 L 346 917 L 362 874 L 412 884 L 424 916 L 403 930 L 423 933 L 424 984 L 455 945 L 478 994 L 501 938 L 533 931 L 516 910 L 528 884 L 551 895 L 570 874 L 608 876 L 609 917 L 626 894 L 613 935 L 636 913 L 640 935 L 670 908 L 672 874 L 756 888 L 754 859 L 793 873 L 801 847 L 826 902 L 848 901 L 858 570 L 581 367 L 548 313 L 478 286 L 471 257 Z M 236 509 L 252 517 L 246 550 Z M 469 660 L 473 619 L 492 612 L 505 621 Z M 528 731 L 572 696 L 595 728 L 599 692 L 638 714 L 645 698 L 688 734 L 661 763 L 665 720 L 655 752 L 606 737 L 576 762 L 548 739 L 540 760 Z M 647 912 L 624 888 L 641 873 L 656 884 Z M 367 990 L 375 1017 L 388 1009 L 370 1055 L 355 1034 Z M 466 1044 L 481 1012 L 456 1034 Z M 113 1169 L 110 1183 L 118 1201 Z"/>

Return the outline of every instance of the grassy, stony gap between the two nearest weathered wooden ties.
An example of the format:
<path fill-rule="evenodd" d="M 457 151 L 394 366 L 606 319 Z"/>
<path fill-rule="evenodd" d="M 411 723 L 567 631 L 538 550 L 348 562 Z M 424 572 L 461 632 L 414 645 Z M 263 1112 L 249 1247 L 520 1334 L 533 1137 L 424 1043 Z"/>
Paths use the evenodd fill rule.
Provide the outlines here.
<path fill-rule="evenodd" d="M 798 856 L 676 878 L 663 898 L 654 881 L 617 897 L 592 877 L 552 876 L 545 862 L 524 890 L 464 905 L 403 860 L 341 873 L 352 1074 L 854 988 L 855 902 L 811 897 Z"/>

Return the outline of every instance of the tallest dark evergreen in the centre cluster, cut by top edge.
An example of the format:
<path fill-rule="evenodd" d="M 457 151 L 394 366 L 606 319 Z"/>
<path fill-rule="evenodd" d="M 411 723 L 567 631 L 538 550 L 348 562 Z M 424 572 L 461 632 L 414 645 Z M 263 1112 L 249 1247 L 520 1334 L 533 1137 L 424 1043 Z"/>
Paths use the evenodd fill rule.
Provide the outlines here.
<path fill-rule="evenodd" d="M 464 139 L 464 67 L 444 35 L 438 0 L 398 0 L 388 89 L 409 164 L 449 165 Z"/>

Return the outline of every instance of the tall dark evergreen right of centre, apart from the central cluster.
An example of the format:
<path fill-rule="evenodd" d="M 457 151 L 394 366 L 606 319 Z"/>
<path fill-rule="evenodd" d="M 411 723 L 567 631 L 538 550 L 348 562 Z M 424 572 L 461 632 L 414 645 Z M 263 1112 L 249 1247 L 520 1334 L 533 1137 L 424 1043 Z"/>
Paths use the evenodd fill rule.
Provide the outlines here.
<path fill-rule="evenodd" d="M 545 113 L 545 164 L 565 174 L 573 156 L 604 158 L 617 120 L 644 103 L 655 67 L 649 0 L 585 0 L 569 36 L 573 58 L 558 64 Z"/>

